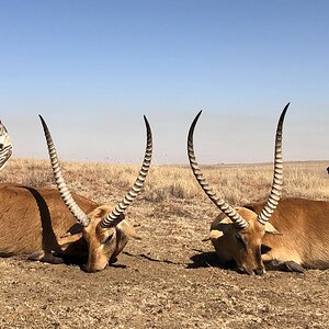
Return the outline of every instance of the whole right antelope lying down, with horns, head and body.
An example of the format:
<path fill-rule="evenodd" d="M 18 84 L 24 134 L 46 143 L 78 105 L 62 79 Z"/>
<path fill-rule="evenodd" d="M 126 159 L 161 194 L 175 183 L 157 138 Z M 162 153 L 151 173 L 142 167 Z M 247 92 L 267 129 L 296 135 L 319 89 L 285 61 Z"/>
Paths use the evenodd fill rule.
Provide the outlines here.
<path fill-rule="evenodd" d="M 209 239 L 222 263 L 235 261 L 240 272 L 263 274 L 265 268 L 303 272 L 304 268 L 329 268 L 329 202 L 285 198 L 282 190 L 282 125 L 276 129 L 274 179 L 268 201 L 232 208 L 209 188 L 195 160 L 193 121 L 188 149 L 193 173 L 213 203 L 222 211 L 211 226 Z M 279 202 L 280 201 L 280 202 Z M 274 212 L 275 209 L 275 212 Z M 271 219 L 271 223 L 269 222 Z"/>

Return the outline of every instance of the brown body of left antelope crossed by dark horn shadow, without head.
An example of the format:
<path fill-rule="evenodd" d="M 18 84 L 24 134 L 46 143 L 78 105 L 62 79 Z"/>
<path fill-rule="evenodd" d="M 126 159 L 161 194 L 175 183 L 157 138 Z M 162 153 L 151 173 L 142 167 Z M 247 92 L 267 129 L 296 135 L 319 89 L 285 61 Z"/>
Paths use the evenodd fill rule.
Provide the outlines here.
<path fill-rule="evenodd" d="M 33 189 L 20 184 L 0 184 L 1 256 L 65 253 L 60 236 L 77 227 L 77 220 L 55 189 Z M 99 205 L 72 194 L 79 206 L 90 213 Z M 41 258 L 41 257 L 39 257 Z M 54 258 L 55 260 L 55 258 Z"/>

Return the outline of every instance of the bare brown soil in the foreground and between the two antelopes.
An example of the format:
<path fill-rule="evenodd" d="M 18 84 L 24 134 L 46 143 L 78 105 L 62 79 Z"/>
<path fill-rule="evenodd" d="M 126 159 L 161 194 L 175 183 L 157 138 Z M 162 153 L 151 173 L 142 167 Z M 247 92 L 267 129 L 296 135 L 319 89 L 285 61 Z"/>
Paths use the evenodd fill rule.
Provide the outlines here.
<path fill-rule="evenodd" d="M 220 269 L 201 241 L 215 215 L 208 204 L 137 202 L 127 219 L 143 240 L 94 274 L 0 259 L 0 328 L 329 328 L 329 271 Z"/>

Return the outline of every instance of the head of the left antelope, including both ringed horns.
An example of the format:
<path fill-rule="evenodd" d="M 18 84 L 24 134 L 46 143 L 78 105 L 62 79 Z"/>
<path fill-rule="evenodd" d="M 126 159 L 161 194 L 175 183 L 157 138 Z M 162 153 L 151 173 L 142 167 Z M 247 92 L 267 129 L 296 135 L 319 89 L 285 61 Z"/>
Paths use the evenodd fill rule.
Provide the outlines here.
<path fill-rule="evenodd" d="M 149 123 L 144 116 L 147 131 L 146 151 L 141 169 L 132 189 L 114 208 L 109 205 L 101 205 L 90 214 L 86 214 L 71 196 L 59 167 L 49 129 L 41 115 L 39 118 L 46 136 L 50 163 L 60 196 L 79 224 L 78 232 L 63 236 L 60 245 L 65 248 L 65 246 L 69 246 L 82 237 L 88 245 L 87 271 L 101 271 L 109 263 L 115 262 L 116 256 L 123 250 L 128 238 L 138 238 L 134 228 L 124 219 L 124 212 L 140 192 L 150 167 L 152 136 Z"/>

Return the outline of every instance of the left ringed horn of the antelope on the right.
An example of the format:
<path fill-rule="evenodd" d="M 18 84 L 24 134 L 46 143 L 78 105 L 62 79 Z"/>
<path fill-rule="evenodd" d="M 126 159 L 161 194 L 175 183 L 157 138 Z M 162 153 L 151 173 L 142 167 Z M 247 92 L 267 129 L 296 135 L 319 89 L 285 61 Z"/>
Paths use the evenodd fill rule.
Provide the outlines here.
<path fill-rule="evenodd" d="M 231 222 L 235 224 L 238 228 L 247 228 L 248 223 L 246 219 L 243 219 L 225 200 L 219 198 L 216 193 L 211 189 L 208 182 L 203 177 L 203 173 L 201 172 L 201 169 L 196 162 L 195 155 L 194 155 L 194 147 L 193 147 L 193 134 L 194 134 L 194 127 L 196 125 L 196 122 L 201 115 L 202 111 L 197 113 L 195 116 L 188 136 L 188 155 L 190 160 L 190 166 L 192 168 L 192 171 L 203 189 L 203 191 L 207 194 L 207 196 L 212 200 L 212 202 L 223 212 L 227 217 L 231 219 Z"/>

